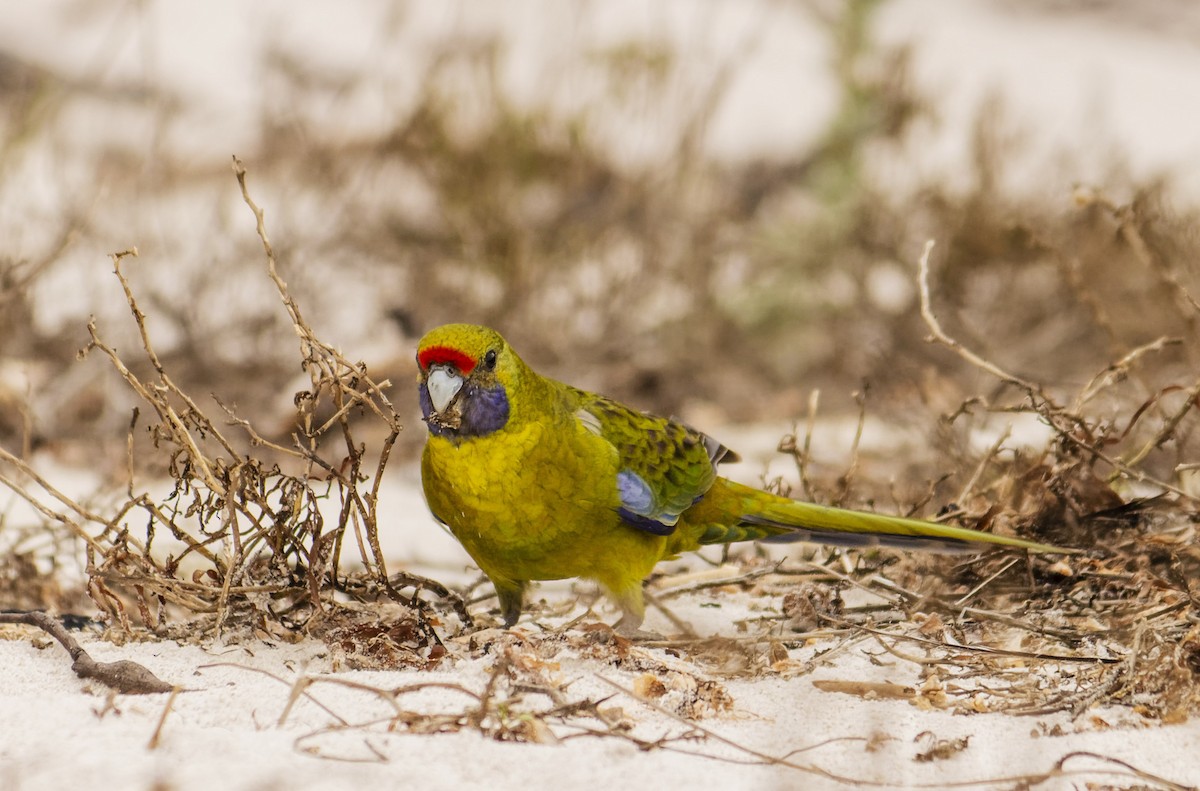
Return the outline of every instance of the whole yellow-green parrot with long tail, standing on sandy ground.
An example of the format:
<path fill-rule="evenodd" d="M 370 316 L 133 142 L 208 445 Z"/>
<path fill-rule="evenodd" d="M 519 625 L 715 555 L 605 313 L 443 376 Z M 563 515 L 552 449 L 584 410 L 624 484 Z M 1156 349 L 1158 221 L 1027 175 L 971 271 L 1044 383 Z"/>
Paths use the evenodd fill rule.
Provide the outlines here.
<path fill-rule="evenodd" d="M 427 426 L 421 484 L 433 517 L 487 575 L 504 625 L 530 581 L 598 582 L 638 634 L 642 583 L 710 544 L 812 541 L 962 551 L 1019 538 L 790 499 L 716 474 L 738 456 L 684 423 L 544 377 L 496 330 L 446 324 L 418 343 Z"/>

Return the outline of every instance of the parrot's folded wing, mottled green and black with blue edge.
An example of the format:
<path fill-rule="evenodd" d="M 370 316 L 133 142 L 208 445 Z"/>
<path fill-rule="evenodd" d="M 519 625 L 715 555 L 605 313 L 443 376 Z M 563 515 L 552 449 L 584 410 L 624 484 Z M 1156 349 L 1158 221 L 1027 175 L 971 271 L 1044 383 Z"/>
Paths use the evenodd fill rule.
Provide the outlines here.
<path fill-rule="evenodd" d="M 575 390 L 576 418 L 617 450 L 617 513 L 654 535 L 671 535 L 679 515 L 716 480 L 716 465 L 737 455 L 676 420 L 635 412 L 611 399 Z"/>

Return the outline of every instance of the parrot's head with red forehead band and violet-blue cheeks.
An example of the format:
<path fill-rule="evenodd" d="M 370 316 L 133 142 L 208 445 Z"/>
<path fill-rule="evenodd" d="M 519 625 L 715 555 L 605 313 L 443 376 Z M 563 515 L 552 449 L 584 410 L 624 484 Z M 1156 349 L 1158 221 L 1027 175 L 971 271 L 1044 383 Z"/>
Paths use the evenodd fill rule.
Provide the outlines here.
<path fill-rule="evenodd" d="M 503 429 L 522 362 L 496 330 L 446 324 L 416 347 L 418 396 L 430 432 L 481 437 Z"/>

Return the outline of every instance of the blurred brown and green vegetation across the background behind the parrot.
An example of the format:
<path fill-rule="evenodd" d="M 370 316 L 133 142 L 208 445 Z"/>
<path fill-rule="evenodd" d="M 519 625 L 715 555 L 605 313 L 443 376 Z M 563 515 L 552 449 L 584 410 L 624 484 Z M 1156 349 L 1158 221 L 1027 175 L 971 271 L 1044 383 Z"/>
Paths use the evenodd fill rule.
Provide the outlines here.
<path fill-rule="evenodd" d="M 595 19 L 576 6 L 581 26 Z M 925 342 L 914 262 L 930 238 L 947 330 L 1051 388 L 1074 392 L 1156 337 L 1194 340 L 1196 215 L 1172 205 L 1168 179 L 1126 175 L 1115 156 L 1103 184 L 1014 190 L 1022 130 L 1001 102 L 980 103 L 953 185 L 884 178 L 940 110 L 911 78 L 919 52 L 877 37 L 887 6 L 756 5 L 762 18 L 738 32 L 745 58 L 700 72 L 667 36 L 581 47 L 539 64 L 542 92 L 517 95 L 504 76 L 528 53 L 468 24 L 470 4 L 461 30 L 418 52 L 403 32 L 419 12 L 397 1 L 358 64 L 247 40 L 260 44 L 256 113 L 206 126 L 152 73 L 169 6 L 62 4 L 72 24 L 108 31 L 84 71 L 0 53 L 0 443 L 124 465 L 134 397 L 77 352 L 89 314 L 136 346 L 108 259 L 130 246 L 175 380 L 287 436 L 302 386 L 292 328 L 230 172 L 188 149 L 224 121 L 254 128 L 228 154 L 246 162 L 293 295 L 322 337 L 392 380 L 407 453 L 424 435 L 413 343 L 450 320 L 494 325 L 547 373 L 706 425 L 800 419 L 815 388 L 823 409 L 852 412 L 864 383 L 892 420 L 952 412 L 997 384 Z M 748 89 L 743 60 L 770 14 L 814 31 L 796 46 L 820 53 L 823 73 L 796 74 L 776 101 L 814 103 L 820 131 L 714 156 L 710 125 Z M 113 77 L 121 56 L 142 78 Z M 805 92 L 814 79 L 824 94 Z M 379 102 L 396 84 L 403 100 Z M 630 154 L 642 137 L 650 154 Z M 1157 384 L 1130 397 L 1190 380 L 1196 348 L 1156 354 Z"/>

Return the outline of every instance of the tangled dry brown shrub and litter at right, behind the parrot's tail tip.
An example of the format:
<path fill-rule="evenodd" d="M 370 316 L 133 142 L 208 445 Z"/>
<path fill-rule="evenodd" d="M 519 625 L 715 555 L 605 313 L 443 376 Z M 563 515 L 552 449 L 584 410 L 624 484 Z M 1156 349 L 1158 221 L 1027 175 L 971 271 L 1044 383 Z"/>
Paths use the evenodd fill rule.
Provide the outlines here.
<path fill-rule="evenodd" d="M 1126 223 L 1120 226 L 1126 244 L 1147 254 L 1140 244 L 1146 228 L 1129 224 L 1135 212 L 1108 210 Z M 887 564 L 883 574 L 880 564 L 866 563 L 858 569 L 860 585 L 904 617 L 895 628 L 876 631 L 870 619 L 863 623 L 847 610 L 842 623 L 865 627 L 881 641 L 895 639 L 892 645 L 918 642 L 940 657 L 923 665 L 936 695 L 914 693 L 922 705 L 1066 709 L 1076 717 L 1098 705 L 1120 705 L 1166 723 L 1200 713 L 1200 498 L 1190 479 L 1195 465 L 1188 461 L 1198 450 L 1200 379 L 1177 364 L 1195 353 L 1194 332 L 1122 347 L 1120 358 L 1075 391 L 1043 384 L 946 331 L 931 298 L 930 251 L 926 246 L 919 278 L 930 340 L 995 384 L 988 396 L 972 395 L 941 418 L 943 436 L 960 441 L 954 465 L 940 479 L 960 489 L 950 490 L 959 493 L 942 516 L 1080 553 L 1025 559 L 988 553 L 966 562 L 906 557 Z M 1160 307 L 1146 323 L 1187 330 L 1200 306 L 1176 269 L 1164 265 L 1160 272 L 1174 308 Z M 971 429 L 1020 414 L 1049 429 L 1044 447 L 1009 447 L 1003 431 L 984 453 L 967 449 Z M 1010 672 L 1014 661 L 1021 672 Z M 979 685 L 979 677 L 1003 684 Z"/>

